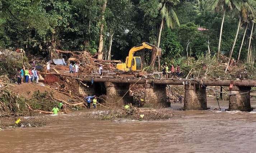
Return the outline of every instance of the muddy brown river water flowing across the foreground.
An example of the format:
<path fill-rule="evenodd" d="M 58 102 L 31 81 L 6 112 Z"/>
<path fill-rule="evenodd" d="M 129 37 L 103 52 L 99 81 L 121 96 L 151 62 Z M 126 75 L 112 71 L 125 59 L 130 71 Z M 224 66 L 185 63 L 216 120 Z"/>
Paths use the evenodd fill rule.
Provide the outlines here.
<path fill-rule="evenodd" d="M 208 107 L 218 104 L 208 100 Z M 0 152 L 256 152 L 256 112 L 185 111 L 164 121 L 111 122 L 83 113 L 49 116 L 57 121 L 44 127 L 1 130 Z"/>

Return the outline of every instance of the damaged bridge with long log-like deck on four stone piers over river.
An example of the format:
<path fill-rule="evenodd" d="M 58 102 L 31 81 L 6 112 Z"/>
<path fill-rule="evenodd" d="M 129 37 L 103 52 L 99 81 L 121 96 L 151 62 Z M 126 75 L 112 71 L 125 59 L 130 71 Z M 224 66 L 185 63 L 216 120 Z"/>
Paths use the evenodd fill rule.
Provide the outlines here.
<path fill-rule="evenodd" d="M 52 73 L 54 74 L 54 73 Z M 61 75 L 61 74 L 58 74 Z M 68 76 L 68 75 L 63 75 Z M 183 85 L 185 88 L 184 109 L 203 110 L 207 109 L 206 89 L 207 86 L 230 86 L 229 110 L 251 111 L 250 92 L 251 87 L 256 86 L 256 80 L 204 80 L 204 79 L 159 79 L 159 78 L 126 78 L 111 76 L 80 76 L 77 80 L 93 84 L 100 83 L 104 87 L 104 100 L 108 104 L 116 106 L 125 105 L 133 101 L 129 94 L 130 84 L 144 84 L 144 101 L 150 106 L 167 107 L 170 103 L 166 98 L 167 85 Z M 90 85 L 90 84 L 88 84 Z M 89 87 L 90 88 L 90 87 Z M 88 90 L 87 93 L 90 91 Z M 96 89 L 100 91 L 101 89 Z M 95 91 L 95 89 L 94 89 Z M 93 93 L 91 93 L 92 95 Z M 88 94 L 87 94 L 88 95 Z"/>

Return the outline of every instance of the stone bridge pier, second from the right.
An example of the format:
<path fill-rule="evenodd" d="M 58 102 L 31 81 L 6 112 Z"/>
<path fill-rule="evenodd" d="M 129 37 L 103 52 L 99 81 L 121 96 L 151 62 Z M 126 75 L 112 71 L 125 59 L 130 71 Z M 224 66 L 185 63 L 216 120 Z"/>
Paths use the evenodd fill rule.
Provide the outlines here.
<path fill-rule="evenodd" d="M 207 108 L 206 88 L 200 85 L 185 85 L 184 110 Z"/>

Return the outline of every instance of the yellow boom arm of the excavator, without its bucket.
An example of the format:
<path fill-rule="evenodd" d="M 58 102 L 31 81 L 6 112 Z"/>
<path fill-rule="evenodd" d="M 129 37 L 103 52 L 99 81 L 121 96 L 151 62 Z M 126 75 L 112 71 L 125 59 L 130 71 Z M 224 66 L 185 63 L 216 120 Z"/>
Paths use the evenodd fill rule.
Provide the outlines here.
<path fill-rule="evenodd" d="M 140 51 L 141 49 L 144 49 L 144 48 L 153 49 L 153 47 L 154 47 L 154 45 L 149 44 L 149 43 L 142 43 L 142 44 L 139 44 L 138 46 L 132 47 L 129 51 L 129 56 L 128 56 L 126 66 L 128 68 L 131 68 L 132 58 L 133 58 L 133 54 L 135 52 Z"/>

